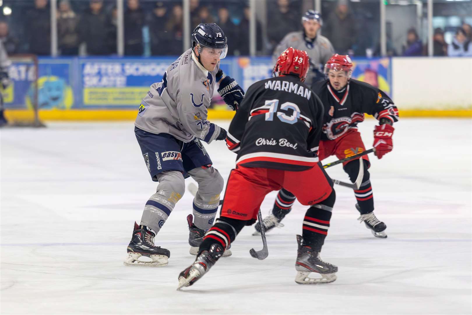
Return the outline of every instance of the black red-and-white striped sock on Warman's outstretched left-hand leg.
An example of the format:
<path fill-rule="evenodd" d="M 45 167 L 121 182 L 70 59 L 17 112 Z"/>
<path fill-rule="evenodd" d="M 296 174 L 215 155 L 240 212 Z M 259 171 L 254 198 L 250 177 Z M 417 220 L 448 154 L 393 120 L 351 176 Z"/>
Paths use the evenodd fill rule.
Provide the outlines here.
<path fill-rule="evenodd" d="M 198 249 L 198 254 L 209 250 L 212 244 L 218 243 L 226 249 L 236 238 L 236 235 L 244 227 L 246 221 L 231 218 L 219 218 L 203 237 L 203 242 Z"/>

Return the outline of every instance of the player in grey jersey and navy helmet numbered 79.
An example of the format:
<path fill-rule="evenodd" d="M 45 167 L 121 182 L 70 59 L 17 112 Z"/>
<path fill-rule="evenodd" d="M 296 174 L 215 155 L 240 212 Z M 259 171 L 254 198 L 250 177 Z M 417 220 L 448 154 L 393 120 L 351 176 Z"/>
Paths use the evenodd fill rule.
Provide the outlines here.
<path fill-rule="evenodd" d="M 221 28 L 214 23 L 200 24 L 192 34 L 192 48 L 167 68 L 162 81 L 151 85 L 141 102 L 135 135 L 151 178 L 159 185 L 144 206 L 141 223 L 135 222 L 126 265 L 168 264 L 170 251 L 154 245 L 154 237 L 184 195 L 186 177 L 198 183 L 193 214 L 187 216 L 191 254 L 196 255 L 203 235 L 213 224 L 223 178 L 212 167 L 200 140 L 210 144 L 224 140 L 227 133 L 207 120 L 208 107 L 216 83 L 233 110 L 244 98 L 236 81 L 219 69 L 219 60 L 227 51 Z M 151 260 L 141 260 L 141 256 Z"/>

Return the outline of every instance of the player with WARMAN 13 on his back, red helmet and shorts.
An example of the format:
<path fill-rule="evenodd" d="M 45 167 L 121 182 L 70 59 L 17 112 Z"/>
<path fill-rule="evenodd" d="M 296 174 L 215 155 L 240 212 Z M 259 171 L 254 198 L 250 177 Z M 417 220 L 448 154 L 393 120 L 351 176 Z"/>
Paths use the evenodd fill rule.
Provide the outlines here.
<path fill-rule="evenodd" d="M 295 281 L 336 280 L 337 266 L 323 262 L 319 255 L 336 195 L 317 156 L 324 111 L 318 96 L 303 83 L 308 68 L 307 53 L 290 47 L 279 56 L 275 77 L 247 90 L 227 134 L 227 146 L 237 158 L 220 217 L 204 236 L 195 262 L 180 273 L 179 288 L 208 272 L 241 229 L 255 223 L 264 197 L 282 187 L 310 206 L 303 235 L 297 235 Z M 309 278 L 310 272 L 320 278 Z"/>

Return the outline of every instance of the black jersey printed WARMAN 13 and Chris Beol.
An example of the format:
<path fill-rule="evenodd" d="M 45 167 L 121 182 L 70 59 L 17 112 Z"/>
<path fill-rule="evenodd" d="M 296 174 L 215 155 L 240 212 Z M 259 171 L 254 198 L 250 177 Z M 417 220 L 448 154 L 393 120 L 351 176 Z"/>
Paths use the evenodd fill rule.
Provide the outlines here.
<path fill-rule="evenodd" d="M 251 85 L 226 138 L 236 164 L 279 170 L 307 170 L 318 162 L 323 105 L 295 76 Z"/>

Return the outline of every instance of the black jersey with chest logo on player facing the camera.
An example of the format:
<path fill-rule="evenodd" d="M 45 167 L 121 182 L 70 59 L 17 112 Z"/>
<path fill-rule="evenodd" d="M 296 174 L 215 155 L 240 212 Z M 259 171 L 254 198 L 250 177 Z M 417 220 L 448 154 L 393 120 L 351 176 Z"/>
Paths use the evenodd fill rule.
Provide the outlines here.
<path fill-rule="evenodd" d="M 364 114 L 376 119 L 398 121 L 398 109 L 393 101 L 380 89 L 358 80 L 350 79 L 341 91 L 336 91 L 329 80 L 317 81 L 312 90 L 324 105 L 322 140 L 333 140 L 349 129 L 357 129 Z"/>

